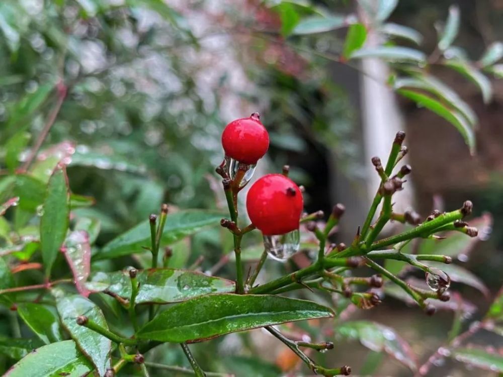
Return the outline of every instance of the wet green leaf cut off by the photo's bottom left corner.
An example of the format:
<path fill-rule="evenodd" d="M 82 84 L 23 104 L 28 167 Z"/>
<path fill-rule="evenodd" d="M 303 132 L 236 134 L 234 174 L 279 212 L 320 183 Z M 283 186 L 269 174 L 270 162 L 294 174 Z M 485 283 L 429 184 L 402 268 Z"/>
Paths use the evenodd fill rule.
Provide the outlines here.
<path fill-rule="evenodd" d="M 37 348 L 13 365 L 4 377 L 81 377 L 93 370 L 73 340 Z"/>

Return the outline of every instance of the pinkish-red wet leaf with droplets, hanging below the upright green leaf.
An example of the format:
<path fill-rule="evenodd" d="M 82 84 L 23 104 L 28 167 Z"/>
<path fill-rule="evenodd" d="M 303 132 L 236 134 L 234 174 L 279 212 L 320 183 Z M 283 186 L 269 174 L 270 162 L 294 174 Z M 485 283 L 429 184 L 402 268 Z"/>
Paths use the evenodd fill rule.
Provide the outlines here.
<path fill-rule="evenodd" d="M 70 266 L 75 288 L 82 296 L 88 297 L 89 291 L 84 285 L 91 273 L 91 245 L 88 233 L 74 230 L 66 238 L 62 250 Z"/>

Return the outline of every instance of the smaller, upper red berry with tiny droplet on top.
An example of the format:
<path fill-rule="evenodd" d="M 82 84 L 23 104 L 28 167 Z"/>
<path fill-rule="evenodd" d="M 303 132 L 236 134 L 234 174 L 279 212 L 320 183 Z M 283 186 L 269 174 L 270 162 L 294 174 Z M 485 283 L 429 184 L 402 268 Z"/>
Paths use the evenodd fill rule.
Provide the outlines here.
<path fill-rule="evenodd" d="M 226 156 L 245 164 L 256 164 L 269 148 L 269 134 L 258 113 L 230 122 L 223 130 L 222 146 Z"/>

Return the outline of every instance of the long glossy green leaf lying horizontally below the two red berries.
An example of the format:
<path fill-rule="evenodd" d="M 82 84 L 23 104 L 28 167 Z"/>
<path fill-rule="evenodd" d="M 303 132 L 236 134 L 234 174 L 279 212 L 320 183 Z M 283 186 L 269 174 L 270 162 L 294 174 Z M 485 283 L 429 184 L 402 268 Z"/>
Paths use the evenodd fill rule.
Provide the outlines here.
<path fill-rule="evenodd" d="M 314 302 L 281 296 L 209 295 L 165 310 L 143 326 L 136 337 L 196 342 L 236 331 L 333 316 L 331 309 Z"/>

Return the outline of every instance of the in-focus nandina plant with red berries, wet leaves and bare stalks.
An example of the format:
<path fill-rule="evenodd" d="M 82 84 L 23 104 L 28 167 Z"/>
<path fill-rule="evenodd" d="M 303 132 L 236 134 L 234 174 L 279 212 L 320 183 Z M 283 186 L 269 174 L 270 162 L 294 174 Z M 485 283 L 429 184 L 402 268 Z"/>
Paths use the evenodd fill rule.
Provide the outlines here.
<path fill-rule="evenodd" d="M 19 316 L 23 328 L 26 327 L 23 333 L 30 334 L 3 345 L 10 359 L 19 360 L 5 375 L 110 377 L 128 369 L 147 376 L 159 368 L 197 376 L 220 375 L 205 372 L 189 344 L 257 328 L 263 328 L 293 351 L 310 372 L 348 375 L 352 367 L 360 369 L 361 365 L 346 365 L 332 350 L 333 330 L 323 329 L 332 329 L 334 321 L 338 339 L 359 338 L 374 351 L 382 349 L 390 353 L 418 375 L 427 374 L 431 364 L 445 357 L 447 351 L 461 361 L 483 367 L 484 360 L 495 356 L 479 350 L 474 354 L 472 349 L 460 346 L 463 339 L 477 330 L 495 327 L 503 312 L 501 295 L 485 319 L 465 333 L 461 333 L 463 302 L 458 297 L 453 306 L 447 307 L 460 313 L 447 343 L 421 367 L 392 329 L 374 322 L 347 320 L 351 308 L 372 309 L 386 295 L 401 297 L 427 315 L 433 315 L 437 309 L 445 309 L 444 304 L 450 300 L 451 278 L 464 281 L 459 277 L 461 267 L 453 268 L 449 255 L 442 255 L 439 250 L 414 253 L 408 247 L 415 239 L 460 236 L 469 239 L 477 236 L 477 229 L 465 222 L 472 212 L 470 201 L 451 212 L 434 210 L 426 219 L 413 211 L 394 211 L 393 196 L 403 189 L 404 177 L 411 172 L 409 165 L 400 166 L 407 152 L 402 145 L 404 138 L 403 132 L 396 134 L 385 165 L 380 158 L 372 158 L 381 178 L 374 201 L 355 237 L 347 244 L 337 245 L 330 243 L 330 239 L 345 207 L 334 206 L 326 221 L 322 221 L 325 216 L 321 211 L 303 214 L 302 190 L 288 177 L 288 166 L 284 166 L 281 174 L 264 175 L 251 185 L 246 198 L 251 222 L 248 224 L 245 216 L 239 216 L 239 194 L 269 144 L 267 130 L 257 113 L 231 122 L 223 131 L 225 157 L 216 171 L 222 177 L 230 218 L 222 218 L 219 212 L 198 210 L 170 214 L 169 206 L 163 205 L 159 215 L 150 215 L 147 221 L 99 250 L 91 246 L 97 237 L 96 223 L 71 215 L 85 198 L 70 193 L 65 164 L 60 161 L 42 193 L 43 206 L 38 211 L 40 241 L 22 236 L 16 244 L 7 247 L 4 257 L 0 258 L 1 303 L 12 310 L 16 321 Z M 13 177 L 16 179 L 12 182 L 2 181 L 6 187 L 3 195 L 16 195 L 5 201 L 2 215 L 33 205 L 30 203 L 33 193 L 23 188 L 32 179 L 30 175 Z M 38 190 L 36 187 L 32 182 L 31 190 Z M 234 279 L 199 272 L 200 261 L 185 269 L 170 267 L 175 251 L 164 246 L 218 221 L 233 238 Z M 401 233 L 380 237 L 390 221 L 408 225 Z M 245 271 L 242 241 L 259 231 L 263 236 L 263 251 L 254 268 Z M 301 247 L 302 240 L 309 241 Z M 300 249 L 313 249 L 313 246 L 316 250 L 305 254 L 309 260 L 307 265 L 257 283 L 266 263 L 284 263 L 302 253 Z M 145 255 L 145 249 L 150 258 Z M 135 266 L 105 272 L 103 262 L 127 255 L 135 256 Z M 228 255 L 222 255 L 219 263 L 229 260 Z M 397 268 L 396 263 L 389 262 L 421 271 L 424 279 L 416 279 L 411 284 L 403 278 L 409 269 L 403 265 Z M 60 270 L 64 264 L 69 267 L 68 272 Z M 23 280 L 16 280 L 16 273 L 39 268 L 44 273 L 37 275 L 36 284 L 18 284 Z M 209 271 L 212 270 L 218 268 Z M 292 298 L 295 291 L 319 295 L 316 301 L 299 300 Z M 292 331 L 295 327 L 284 325 L 313 319 L 321 322 L 311 329 L 312 337 L 304 334 L 299 338 Z M 367 338 L 369 332 L 373 334 L 372 340 Z M 163 343 L 180 344 L 192 369 L 150 361 L 152 349 Z M 35 352 L 30 352 L 34 348 Z M 322 364 L 312 353 L 328 350 L 334 352 L 330 360 L 337 360 L 336 364 L 335 361 Z"/>

